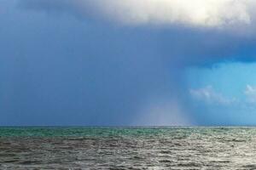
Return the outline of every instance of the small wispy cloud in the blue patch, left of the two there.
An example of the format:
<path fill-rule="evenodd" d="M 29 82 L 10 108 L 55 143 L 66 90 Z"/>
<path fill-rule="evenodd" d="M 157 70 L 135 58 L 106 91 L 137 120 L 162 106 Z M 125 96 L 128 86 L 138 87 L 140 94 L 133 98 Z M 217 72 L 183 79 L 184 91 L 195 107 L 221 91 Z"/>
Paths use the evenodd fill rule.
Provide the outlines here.
<path fill-rule="evenodd" d="M 190 89 L 189 92 L 195 99 L 202 100 L 208 104 L 230 105 L 236 101 L 236 99 L 229 99 L 223 94 L 217 93 L 212 86 L 200 89 Z"/>

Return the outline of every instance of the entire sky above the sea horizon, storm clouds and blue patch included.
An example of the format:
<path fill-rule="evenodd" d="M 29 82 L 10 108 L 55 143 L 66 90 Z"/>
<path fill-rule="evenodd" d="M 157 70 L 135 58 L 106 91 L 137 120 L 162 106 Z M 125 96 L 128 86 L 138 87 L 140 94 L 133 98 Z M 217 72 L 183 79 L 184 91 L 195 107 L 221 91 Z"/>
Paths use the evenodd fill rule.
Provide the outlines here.
<path fill-rule="evenodd" d="M 255 7 L 2 0 L 0 125 L 255 125 Z"/>

